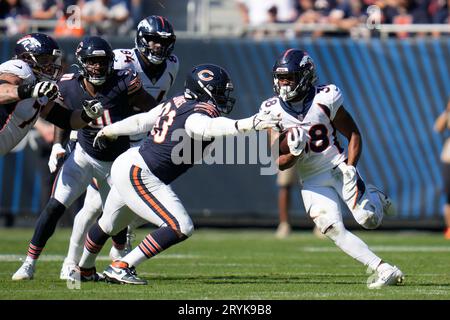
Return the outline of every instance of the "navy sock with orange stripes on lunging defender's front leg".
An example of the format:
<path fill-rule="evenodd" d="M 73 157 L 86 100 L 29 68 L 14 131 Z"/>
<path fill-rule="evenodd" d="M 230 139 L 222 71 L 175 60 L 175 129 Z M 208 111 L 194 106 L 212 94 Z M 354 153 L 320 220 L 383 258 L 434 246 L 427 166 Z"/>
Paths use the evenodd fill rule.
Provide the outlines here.
<path fill-rule="evenodd" d="M 169 227 L 161 227 L 148 234 L 139 246 L 127 254 L 122 261 L 128 263 L 130 267 L 136 267 L 143 261 L 154 257 L 158 253 L 186 238 L 186 236 L 179 237 L 178 234 Z"/>

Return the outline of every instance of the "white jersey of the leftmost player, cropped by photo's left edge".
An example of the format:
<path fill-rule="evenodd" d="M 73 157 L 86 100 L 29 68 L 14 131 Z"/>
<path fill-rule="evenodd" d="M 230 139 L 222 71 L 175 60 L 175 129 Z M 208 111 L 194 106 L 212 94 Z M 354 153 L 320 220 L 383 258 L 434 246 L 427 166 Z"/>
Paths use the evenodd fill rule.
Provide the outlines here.
<path fill-rule="evenodd" d="M 0 65 L 0 73 L 9 73 L 23 79 L 22 84 L 36 81 L 33 71 L 22 60 L 9 60 Z M 33 128 L 46 99 L 29 98 L 0 106 L 0 155 L 11 151 Z"/>

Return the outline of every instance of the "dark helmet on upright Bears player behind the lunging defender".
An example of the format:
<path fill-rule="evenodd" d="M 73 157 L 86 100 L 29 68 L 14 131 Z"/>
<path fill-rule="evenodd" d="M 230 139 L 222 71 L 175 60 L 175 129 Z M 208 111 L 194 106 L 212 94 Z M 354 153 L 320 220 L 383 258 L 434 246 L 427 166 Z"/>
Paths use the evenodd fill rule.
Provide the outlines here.
<path fill-rule="evenodd" d="M 100 37 L 85 37 L 78 44 L 75 57 L 80 73 L 95 86 L 105 83 L 113 72 L 114 52 L 111 45 Z"/>

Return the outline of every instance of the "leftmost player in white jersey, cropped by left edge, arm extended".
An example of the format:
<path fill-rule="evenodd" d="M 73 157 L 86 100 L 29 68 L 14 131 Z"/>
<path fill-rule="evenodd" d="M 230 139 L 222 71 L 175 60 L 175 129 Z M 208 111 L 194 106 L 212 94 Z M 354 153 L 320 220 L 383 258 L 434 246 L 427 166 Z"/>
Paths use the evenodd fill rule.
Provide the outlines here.
<path fill-rule="evenodd" d="M 101 116 L 101 108 L 70 111 L 53 103 L 61 75 L 61 50 L 51 37 L 31 33 L 20 38 L 13 60 L 0 65 L 0 155 L 11 151 L 39 116 L 53 124 L 78 129 Z"/>

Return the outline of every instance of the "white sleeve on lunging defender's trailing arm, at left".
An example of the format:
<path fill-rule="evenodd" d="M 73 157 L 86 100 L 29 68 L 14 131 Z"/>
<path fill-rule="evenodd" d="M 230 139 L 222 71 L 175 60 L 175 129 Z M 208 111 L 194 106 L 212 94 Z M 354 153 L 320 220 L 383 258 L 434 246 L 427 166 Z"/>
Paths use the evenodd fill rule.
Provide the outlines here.
<path fill-rule="evenodd" d="M 164 104 L 160 104 L 149 112 L 139 113 L 128 117 L 122 121 L 113 123 L 103 128 L 108 134 L 115 136 L 129 136 L 150 131 L 159 115 Z"/>

